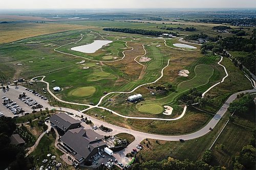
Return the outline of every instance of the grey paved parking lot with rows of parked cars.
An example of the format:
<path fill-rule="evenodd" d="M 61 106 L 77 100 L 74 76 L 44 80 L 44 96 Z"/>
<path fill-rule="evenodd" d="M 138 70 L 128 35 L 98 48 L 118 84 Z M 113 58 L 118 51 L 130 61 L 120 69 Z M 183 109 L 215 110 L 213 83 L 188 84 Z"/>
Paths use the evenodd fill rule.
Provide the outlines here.
<path fill-rule="evenodd" d="M 19 98 L 19 94 L 22 94 L 23 92 L 25 92 L 26 98 Z M 6 89 L 0 90 L 0 100 L 1 100 L 1 104 L 0 104 L 0 112 L 4 113 L 5 116 L 8 117 L 13 117 L 14 115 L 18 115 L 18 116 L 22 116 L 24 115 L 26 112 L 32 113 L 33 109 L 31 107 L 36 107 L 36 105 L 42 105 L 41 109 L 45 110 L 46 107 L 50 107 L 50 105 L 48 104 L 48 100 L 44 100 L 41 99 L 41 97 L 37 96 L 35 93 L 33 94 L 32 91 L 28 91 L 26 90 L 25 87 L 23 86 L 10 86 L 10 89 Z M 11 108 L 21 108 L 22 110 L 24 110 L 24 112 L 22 113 L 17 113 L 14 114 L 13 113 L 13 109 L 10 110 L 7 108 L 8 104 L 3 104 L 4 100 L 3 98 L 8 98 L 10 99 L 10 101 L 13 101 L 11 103 L 8 103 L 9 105 L 11 105 Z M 26 104 L 27 102 L 29 102 L 30 106 L 28 104 Z M 32 104 L 32 105 L 31 105 Z M 20 109 L 19 109 L 20 110 Z M 39 111 L 40 108 L 34 109 Z"/>

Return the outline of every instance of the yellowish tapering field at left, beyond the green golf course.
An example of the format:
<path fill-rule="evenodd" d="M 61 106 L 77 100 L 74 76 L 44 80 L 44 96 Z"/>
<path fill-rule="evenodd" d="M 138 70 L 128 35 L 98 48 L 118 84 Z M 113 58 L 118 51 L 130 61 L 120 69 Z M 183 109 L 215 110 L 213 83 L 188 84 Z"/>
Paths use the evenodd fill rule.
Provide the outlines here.
<path fill-rule="evenodd" d="M 38 35 L 87 28 L 92 27 L 66 23 L 4 23 L 0 27 L 0 44 Z"/>

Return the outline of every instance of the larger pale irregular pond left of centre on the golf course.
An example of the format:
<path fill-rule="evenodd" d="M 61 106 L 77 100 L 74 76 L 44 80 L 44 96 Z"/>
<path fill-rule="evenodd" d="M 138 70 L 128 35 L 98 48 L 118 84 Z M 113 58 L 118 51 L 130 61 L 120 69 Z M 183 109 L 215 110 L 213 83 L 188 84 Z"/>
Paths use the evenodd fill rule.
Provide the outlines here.
<path fill-rule="evenodd" d="M 109 40 L 94 40 L 93 43 L 72 47 L 71 50 L 82 53 L 95 53 L 103 45 L 109 44 L 113 41 Z"/>

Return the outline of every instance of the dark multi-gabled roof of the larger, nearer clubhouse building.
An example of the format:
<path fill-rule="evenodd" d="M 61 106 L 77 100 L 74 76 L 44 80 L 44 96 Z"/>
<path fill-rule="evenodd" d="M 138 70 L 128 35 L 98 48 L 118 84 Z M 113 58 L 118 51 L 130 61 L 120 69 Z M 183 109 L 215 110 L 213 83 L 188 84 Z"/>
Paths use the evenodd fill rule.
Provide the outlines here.
<path fill-rule="evenodd" d="M 87 159 L 90 153 L 98 147 L 106 146 L 106 143 L 102 141 L 103 136 L 94 132 L 91 129 L 85 130 L 82 128 L 68 130 L 60 140 L 66 143 L 77 154 L 74 155 L 76 159 L 83 157 Z M 88 148 L 88 145 L 90 148 Z"/>

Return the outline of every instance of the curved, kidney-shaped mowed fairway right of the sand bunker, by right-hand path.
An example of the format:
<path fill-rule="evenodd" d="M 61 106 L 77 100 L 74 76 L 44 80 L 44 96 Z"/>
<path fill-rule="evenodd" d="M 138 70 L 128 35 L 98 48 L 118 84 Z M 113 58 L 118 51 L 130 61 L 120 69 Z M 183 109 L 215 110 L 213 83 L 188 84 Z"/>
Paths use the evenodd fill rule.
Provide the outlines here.
<path fill-rule="evenodd" d="M 195 67 L 195 74 L 193 79 L 181 82 L 177 90 L 184 91 L 207 84 L 214 74 L 214 68 L 207 64 L 200 64 Z"/>

